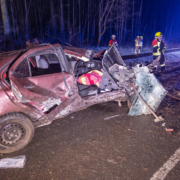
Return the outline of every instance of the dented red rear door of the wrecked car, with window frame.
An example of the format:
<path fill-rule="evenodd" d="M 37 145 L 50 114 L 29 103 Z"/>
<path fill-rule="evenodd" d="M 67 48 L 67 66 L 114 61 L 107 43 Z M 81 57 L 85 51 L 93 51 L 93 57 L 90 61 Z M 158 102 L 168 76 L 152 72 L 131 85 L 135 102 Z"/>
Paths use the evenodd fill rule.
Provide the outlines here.
<path fill-rule="evenodd" d="M 27 54 L 24 59 L 17 60 L 10 69 L 9 78 L 12 92 L 20 103 L 29 103 L 40 109 L 43 113 L 58 107 L 69 98 L 69 92 L 74 84 L 74 76 L 66 66 L 65 56 L 61 49 L 56 52 L 44 51 L 43 54 L 55 54 L 59 60 L 59 72 L 39 73 L 33 75 L 33 68 L 37 69 L 36 61 L 32 56 L 42 56 L 42 52 Z M 57 54 L 59 53 L 59 54 Z M 44 67 L 43 67 L 44 68 Z M 42 69 L 41 69 L 42 70 Z M 48 67 L 43 69 L 48 71 Z M 66 72 L 65 72 L 66 70 Z M 54 115 L 55 116 L 55 115 Z"/>

